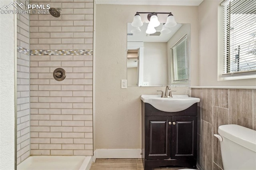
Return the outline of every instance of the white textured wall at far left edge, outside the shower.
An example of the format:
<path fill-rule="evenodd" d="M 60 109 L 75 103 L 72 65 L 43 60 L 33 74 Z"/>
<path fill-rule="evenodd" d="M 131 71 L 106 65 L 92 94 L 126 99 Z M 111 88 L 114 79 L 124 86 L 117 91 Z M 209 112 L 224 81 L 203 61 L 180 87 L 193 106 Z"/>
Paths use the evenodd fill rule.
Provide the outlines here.
<path fill-rule="evenodd" d="M 12 0 L 1 0 L 0 6 Z M 11 8 L 14 10 L 14 8 Z M 0 14 L 0 169 L 13 170 L 15 165 L 15 109 L 14 109 L 14 71 L 15 35 L 14 15 Z M 4 24 L 2 24 L 4 23 Z"/>

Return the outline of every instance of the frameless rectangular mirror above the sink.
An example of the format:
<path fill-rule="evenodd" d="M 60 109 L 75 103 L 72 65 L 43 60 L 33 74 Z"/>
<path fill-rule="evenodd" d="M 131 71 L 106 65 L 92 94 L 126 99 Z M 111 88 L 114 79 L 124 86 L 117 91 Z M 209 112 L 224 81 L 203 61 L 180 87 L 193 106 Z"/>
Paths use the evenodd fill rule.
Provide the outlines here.
<path fill-rule="evenodd" d="M 140 27 L 140 33 L 132 34 L 134 27 L 131 23 L 127 23 L 128 86 L 171 85 L 172 50 L 170 49 L 184 35 L 188 37 L 188 60 L 190 59 L 190 24 L 177 24 L 170 28 L 170 33 L 161 34 L 163 25 L 161 23 L 155 28 L 156 33 L 146 34 L 148 23 L 144 23 Z M 188 85 L 188 83 L 176 85 Z"/>

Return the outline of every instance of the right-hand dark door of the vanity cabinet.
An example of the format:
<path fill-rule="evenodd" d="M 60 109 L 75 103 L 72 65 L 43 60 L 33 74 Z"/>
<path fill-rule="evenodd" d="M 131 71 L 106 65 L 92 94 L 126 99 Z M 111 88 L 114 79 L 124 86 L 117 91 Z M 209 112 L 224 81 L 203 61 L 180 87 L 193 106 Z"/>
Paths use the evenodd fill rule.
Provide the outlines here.
<path fill-rule="evenodd" d="M 172 159 L 196 159 L 196 129 L 196 116 L 172 117 Z"/>

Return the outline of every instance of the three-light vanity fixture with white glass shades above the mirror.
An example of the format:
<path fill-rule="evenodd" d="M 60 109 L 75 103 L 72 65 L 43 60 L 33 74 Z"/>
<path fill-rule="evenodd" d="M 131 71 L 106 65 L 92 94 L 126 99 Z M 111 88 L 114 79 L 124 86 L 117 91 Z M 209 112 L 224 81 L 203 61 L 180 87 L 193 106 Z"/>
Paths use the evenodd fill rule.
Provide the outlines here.
<path fill-rule="evenodd" d="M 140 14 L 148 14 L 148 29 L 146 30 L 147 34 L 154 34 L 156 32 L 155 27 L 160 25 L 160 22 L 158 21 L 157 14 L 169 14 L 165 25 L 162 27 L 161 34 L 168 34 L 170 33 L 170 29 L 177 25 L 177 22 L 174 19 L 174 16 L 172 15 L 172 12 L 136 12 L 133 21 L 132 26 L 135 27 L 134 30 L 132 30 L 132 33 L 140 33 L 140 27 L 143 25 L 143 22 L 141 20 Z"/>

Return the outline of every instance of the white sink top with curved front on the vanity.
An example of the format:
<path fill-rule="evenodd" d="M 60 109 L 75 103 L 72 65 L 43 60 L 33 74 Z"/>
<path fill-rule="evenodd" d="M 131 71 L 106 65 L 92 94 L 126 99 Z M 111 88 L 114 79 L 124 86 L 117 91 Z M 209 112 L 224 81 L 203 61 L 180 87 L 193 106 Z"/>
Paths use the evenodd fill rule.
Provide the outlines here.
<path fill-rule="evenodd" d="M 188 95 L 172 95 L 172 97 L 161 97 L 161 95 L 141 95 L 144 103 L 149 103 L 154 108 L 165 112 L 179 112 L 188 109 L 194 103 L 200 102 L 199 98 L 188 97 Z"/>

